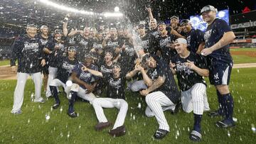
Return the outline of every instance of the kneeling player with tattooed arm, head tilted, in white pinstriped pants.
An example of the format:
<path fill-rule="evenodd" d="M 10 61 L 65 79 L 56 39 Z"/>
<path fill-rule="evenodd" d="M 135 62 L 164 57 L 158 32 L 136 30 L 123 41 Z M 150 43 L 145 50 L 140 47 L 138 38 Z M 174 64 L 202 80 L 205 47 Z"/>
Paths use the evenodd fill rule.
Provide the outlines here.
<path fill-rule="evenodd" d="M 180 92 L 171 73 L 170 67 L 160 60 L 156 55 L 142 55 L 142 65 L 149 67 L 149 77 L 143 67 L 138 67 L 142 72 L 145 84 L 148 86 L 140 92 L 146 96 L 146 116 L 156 117 L 159 129 L 154 133 L 154 138 L 161 139 L 170 131 L 169 125 L 164 116 L 164 111 L 174 111 L 176 103 L 180 98 Z"/>

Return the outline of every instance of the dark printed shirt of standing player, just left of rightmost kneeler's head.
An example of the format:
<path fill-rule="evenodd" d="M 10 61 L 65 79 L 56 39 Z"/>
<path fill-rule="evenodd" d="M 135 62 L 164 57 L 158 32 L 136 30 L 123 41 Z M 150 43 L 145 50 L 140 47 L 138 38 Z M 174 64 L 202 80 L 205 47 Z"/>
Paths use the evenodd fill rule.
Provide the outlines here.
<path fill-rule="evenodd" d="M 173 43 L 174 41 L 174 35 L 166 35 L 164 37 L 159 37 L 159 48 L 161 50 L 161 57 L 169 63 L 171 60 L 171 57 L 174 57 L 174 55 L 177 54 L 176 50 L 173 48 L 170 48 L 168 45 Z"/>

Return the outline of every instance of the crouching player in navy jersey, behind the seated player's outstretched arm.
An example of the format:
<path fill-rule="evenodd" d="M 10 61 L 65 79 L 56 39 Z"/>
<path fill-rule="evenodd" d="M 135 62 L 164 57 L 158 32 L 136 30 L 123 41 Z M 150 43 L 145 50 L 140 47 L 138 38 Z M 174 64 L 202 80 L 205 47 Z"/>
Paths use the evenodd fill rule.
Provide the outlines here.
<path fill-rule="evenodd" d="M 96 65 L 92 65 L 93 57 L 90 54 L 85 55 L 85 60 L 78 65 L 75 65 L 71 78 L 73 79 L 73 85 L 71 86 L 71 97 L 68 96 L 69 105 L 68 105 L 68 116 L 75 118 L 78 116 L 74 110 L 74 103 L 77 96 L 80 96 L 82 99 L 89 101 L 90 104 L 93 99 L 95 99 L 95 95 L 92 94 L 92 91 L 95 89 L 97 85 L 97 77 L 93 76 L 90 72 L 82 70 L 83 67 L 90 68 L 91 70 L 98 70 Z"/>

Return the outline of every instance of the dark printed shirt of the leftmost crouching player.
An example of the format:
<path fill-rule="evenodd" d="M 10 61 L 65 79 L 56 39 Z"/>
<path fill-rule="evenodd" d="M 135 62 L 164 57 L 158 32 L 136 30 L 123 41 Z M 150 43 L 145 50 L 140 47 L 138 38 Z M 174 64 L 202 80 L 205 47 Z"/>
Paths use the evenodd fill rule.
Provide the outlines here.
<path fill-rule="evenodd" d="M 68 56 L 63 57 L 62 60 L 58 62 L 58 72 L 56 79 L 60 79 L 61 82 L 65 84 L 68 81 L 68 77 L 72 73 L 75 65 L 78 65 L 78 60 L 69 60 Z"/>

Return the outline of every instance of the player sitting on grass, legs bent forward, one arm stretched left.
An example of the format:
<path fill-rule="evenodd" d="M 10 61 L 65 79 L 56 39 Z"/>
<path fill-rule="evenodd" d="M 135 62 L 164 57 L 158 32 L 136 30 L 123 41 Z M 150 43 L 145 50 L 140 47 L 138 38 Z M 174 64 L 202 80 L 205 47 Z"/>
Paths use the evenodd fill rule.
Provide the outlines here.
<path fill-rule="evenodd" d="M 96 131 L 100 131 L 103 128 L 111 126 L 110 121 L 103 112 L 102 108 L 117 108 L 119 113 L 117 120 L 114 123 L 110 135 L 121 136 L 125 134 L 124 120 L 128 110 L 127 101 L 125 101 L 124 88 L 125 77 L 120 73 L 121 66 L 116 62 L 113 64 L 112 74 L 101 73 L 95 70 L 90 70 L 87 67 L 84 69 L 87 72 L 97 76 L 103 77 L 107 81 L 107 98 L 97 98 L 92 101 L 92 106 L 95 109 L 95 113 L 99 123 L 95 126 Z"/>

